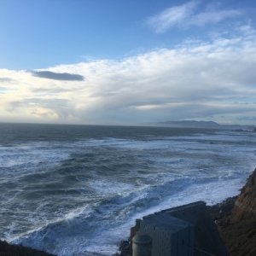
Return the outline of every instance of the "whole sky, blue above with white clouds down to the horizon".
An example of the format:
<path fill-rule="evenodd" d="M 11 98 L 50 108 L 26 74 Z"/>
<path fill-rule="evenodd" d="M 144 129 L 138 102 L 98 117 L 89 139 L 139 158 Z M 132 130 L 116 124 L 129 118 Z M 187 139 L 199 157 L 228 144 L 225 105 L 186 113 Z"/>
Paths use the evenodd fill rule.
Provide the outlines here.
<path fill-rule="evenodd" d="M 0 0 L 0 122 L 256 125 L 254 0 Z"/>

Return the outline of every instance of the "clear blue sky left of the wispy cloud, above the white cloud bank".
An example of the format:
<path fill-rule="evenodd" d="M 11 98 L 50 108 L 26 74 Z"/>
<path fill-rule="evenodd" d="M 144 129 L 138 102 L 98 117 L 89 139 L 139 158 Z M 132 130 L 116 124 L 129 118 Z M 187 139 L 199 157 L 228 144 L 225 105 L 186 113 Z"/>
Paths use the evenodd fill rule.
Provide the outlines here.
<path fill-rule="evenodd" d="M 6 0 L 0 9 L 1 67 L 44 68 L 122 58 L 168 43 L 145 24 L 170 1 Z M 168 43 L 170 44 L 170 43 Z"/>

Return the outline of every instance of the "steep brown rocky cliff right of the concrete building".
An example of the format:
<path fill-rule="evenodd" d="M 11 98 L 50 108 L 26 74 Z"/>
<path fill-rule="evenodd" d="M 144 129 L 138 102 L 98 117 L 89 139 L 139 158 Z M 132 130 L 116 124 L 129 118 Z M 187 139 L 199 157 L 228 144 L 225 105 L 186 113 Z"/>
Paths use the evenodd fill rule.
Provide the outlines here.
<path fill-rule="evenodd" d="M 219 212 L 223 213 L 224 207 Z M 256 255 L 256 169 L 236 198 L 230 216 L 224 214 L 216 223 L 230 256 Z"/>

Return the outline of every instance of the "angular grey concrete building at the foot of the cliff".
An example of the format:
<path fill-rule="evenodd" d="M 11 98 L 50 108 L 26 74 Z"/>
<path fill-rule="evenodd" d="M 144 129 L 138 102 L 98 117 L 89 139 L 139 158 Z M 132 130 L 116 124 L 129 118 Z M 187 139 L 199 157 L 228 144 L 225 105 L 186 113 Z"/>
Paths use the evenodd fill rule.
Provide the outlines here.
<path fill-rule="evenodd" d="M 151 237 L 151 256 L 228 255 L 204 201 L 145 216 L 135 234 Z"/>

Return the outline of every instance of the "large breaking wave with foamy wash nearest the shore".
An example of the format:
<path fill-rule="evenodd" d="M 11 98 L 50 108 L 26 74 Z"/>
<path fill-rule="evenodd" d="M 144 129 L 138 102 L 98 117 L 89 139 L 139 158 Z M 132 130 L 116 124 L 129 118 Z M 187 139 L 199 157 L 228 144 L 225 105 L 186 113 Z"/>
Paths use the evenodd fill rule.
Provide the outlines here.
<path fill-rule="evenodd" d="M 227 183 L 216 178 L 194 180 L 185 177 L 131 193 L 126 191 L 123 195 L 112 195 L 90 207 L 70 212 L 13 242 L 63 256 L 84 252 L 81 255 L 99 252 L 111 255 L 136 218 L 191 201 L 204 200 L 212 204 L 230 195 L 232 189 L 233 193 L 238 192 L 240 184 L 239 179 L 229 179 Z"/>

